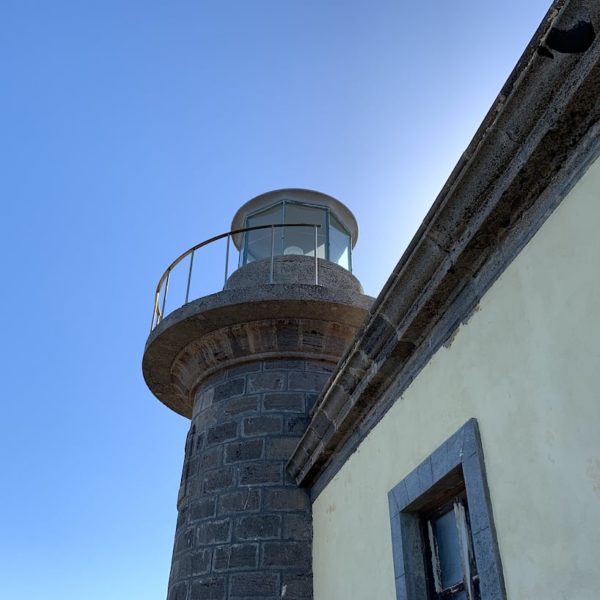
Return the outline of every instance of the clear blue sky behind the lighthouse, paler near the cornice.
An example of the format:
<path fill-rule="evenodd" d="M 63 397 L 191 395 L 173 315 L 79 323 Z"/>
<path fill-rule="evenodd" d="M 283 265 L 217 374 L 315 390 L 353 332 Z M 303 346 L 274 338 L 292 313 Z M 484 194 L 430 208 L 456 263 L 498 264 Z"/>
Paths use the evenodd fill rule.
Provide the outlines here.
<path fill-rule="evenodd" d="M 3 0 L 2 597 L 164 600 L 187 423 L 141 376 L 162 270 L 307 187 L 355 213 L 377 295 L 548 4 Z"/>

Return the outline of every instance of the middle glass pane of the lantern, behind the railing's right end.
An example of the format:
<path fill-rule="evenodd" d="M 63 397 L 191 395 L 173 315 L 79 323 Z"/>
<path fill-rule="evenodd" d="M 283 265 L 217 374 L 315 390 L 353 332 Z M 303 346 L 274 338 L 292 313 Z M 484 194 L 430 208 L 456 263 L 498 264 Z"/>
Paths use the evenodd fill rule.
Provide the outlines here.
<path fill-rule="evenodd" d="M 326 258 L 325 248 L 327 240 L 327 211 L 324 208 L 306 206 L 286 202 L 285 223 L 307 223 L 320 225 L 317 230 L 317 256 Z M 314 227 L 285 227 L 283 233 L 283 254 L 315 255 L 315 229 Z"/>

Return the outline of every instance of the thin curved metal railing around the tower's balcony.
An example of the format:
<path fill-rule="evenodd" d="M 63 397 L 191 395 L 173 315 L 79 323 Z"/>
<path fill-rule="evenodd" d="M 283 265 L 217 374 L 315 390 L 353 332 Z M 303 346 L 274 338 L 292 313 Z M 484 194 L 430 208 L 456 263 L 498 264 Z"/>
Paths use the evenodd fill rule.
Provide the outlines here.
<path fill-rule="evenodd" d="M 174 306 L 169 306 L 168 313 L 170 314 L 177 308 L 180 308 L 184 304 L 187 304 L 190 300 L 190 291 L 192 287 L 192 279 L 194 275 L 194 256 L 198 250 L 201 248 L 205 248 L 206 246 L 213 244 L 214 242 L 218 242 L 219 240 L 226 240 L 225 246 L 225 260 L 224 260 L 224 279 L 223 279 L 223 288 L 227 284 L 227 279 L 229 278 L 229 264 L 230 264 L 230 246 L 231 246 L 231 238 L 236 235 L 246 234 L 249 231 L 255 231 L 258 229 L 270 229 L 271 230 L 271 253 L 269 260 L 271 261 L 270 265 L 270 273 L 269 273 L 269 283 L 275 283 L 273 280 L 274 276 L 274 258 L 275 256 L 280 256 L 280 253 L 275 253 L 275 230 L 282 229 L 287 227 L 309 227 L 314 230 L 314 258 L 315 258 L 315 285 L 319 285 L 319 262 L 318 262 L 318 231 L 321 227 L 320 225 L 314 225 L 312 223 L 290 223 L 290 224 L 281 224 L 281 225 L 258 225 L 256 227 L 246 227 L 244 229 L 235 229 L 233 231 L 228 231 L 227 233 L 222 233 L 220 235 L 216 235 L 200 244 L 196 244 L 189 250 L 186 250 L 183 254 L 178 256 L 165 270 L 162 274 L 161 278 L 158 280 L 158 284 L 156 286 L 156 291 L 154 293 L 154 307 L 152 309 L 152 322 L 150 324 L 150 331 L 152 331 L 166 316 L 167 310 L 167 297 L 169 297 L 169 302 L 173 302 L 172 295 L 169 296 L 169 283 L 173 279 L 173 275 L 183 268 L 182 262 L 189 256 L 189 263 L 187 266 L 187 273 L 184 272 L 186 279 L 184 281 L 184 285 L 180 286 L 178 290 L 179 293 L 182 294 L 183 289 L 185 289 L 185 294 L 182 294 L 183 297 L 179 300 L 175 300 Z M 242 245 L 243 248 L 243 245 Z M 241 253 L 241 251 L 240 251 Z M 264 259 L 263 259 L 264 260 Z M 177 269 L 180 267 L 180 269 Z M 182 289 L 181 289 L 182 288 Z M 221 289 L 223 289 L 221 288 Z M 216 290 L 213 290 L 213 292 Z M 209 293 L 213 293 L 209 292 Z M 205 294 L 203 294 L 205 295 Z"/>

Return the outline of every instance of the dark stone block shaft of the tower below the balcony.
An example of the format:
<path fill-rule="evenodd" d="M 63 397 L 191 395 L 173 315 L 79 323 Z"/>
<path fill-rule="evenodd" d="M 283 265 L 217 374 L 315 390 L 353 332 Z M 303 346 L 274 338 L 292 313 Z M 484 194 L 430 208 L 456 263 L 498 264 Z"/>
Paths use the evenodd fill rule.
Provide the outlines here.
<path fill-rule="evenodd" d="M 334 366 L 254 362 L 197 391 L 169 600 L 312 598 L 310 500 L 285 465 Z"/>

